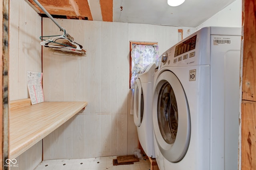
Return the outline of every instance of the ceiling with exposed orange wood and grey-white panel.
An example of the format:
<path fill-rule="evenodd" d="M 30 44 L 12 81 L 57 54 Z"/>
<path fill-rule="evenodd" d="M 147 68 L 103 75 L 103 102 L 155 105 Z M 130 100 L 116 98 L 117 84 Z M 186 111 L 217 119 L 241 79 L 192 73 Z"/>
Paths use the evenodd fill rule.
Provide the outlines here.
<path fill-rule="evenodd" d="M 44 12 L 26 0 L 38 12 Z M 56 18 L 197 27 L 235 0 L 186 0 L 177 7 L 167 0 L 38 0 Z"/>

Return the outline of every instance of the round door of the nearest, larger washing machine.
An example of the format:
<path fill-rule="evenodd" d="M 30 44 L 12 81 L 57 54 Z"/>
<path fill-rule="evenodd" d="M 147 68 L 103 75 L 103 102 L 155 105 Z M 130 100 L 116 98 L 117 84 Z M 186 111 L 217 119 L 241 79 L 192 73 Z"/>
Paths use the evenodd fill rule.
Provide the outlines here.
<path fill-rule="evenodd" d="M 190 142 L 190 112 L 182 84 L 171 71 L 156 79 L 153 124 L 160 152 L 170 162 L 184 158 Z"/>

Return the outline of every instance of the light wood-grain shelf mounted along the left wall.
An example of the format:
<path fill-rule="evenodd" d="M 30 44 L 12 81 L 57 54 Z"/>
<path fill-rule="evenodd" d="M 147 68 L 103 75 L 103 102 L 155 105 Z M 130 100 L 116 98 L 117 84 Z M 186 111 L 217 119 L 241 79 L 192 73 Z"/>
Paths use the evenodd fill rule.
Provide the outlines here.
<path fill-rule="evenodd" d="M 10 155 L 13 159 L 49 135 L 87 106 L 87 102 L 10 102 Z"/>

